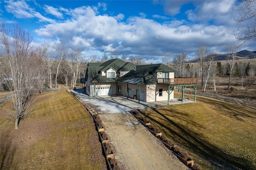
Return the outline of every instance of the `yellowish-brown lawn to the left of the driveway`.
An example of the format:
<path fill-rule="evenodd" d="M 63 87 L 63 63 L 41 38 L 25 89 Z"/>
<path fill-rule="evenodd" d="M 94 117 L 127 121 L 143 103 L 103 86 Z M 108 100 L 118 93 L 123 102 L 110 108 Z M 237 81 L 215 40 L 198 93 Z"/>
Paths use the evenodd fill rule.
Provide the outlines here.
<path fill-rule="evenodd" d="M 1 169 L 101 169 L 106 164 L 92 117 L 66 91 L 43 93 L 19 128 L 3 116 Z"/>

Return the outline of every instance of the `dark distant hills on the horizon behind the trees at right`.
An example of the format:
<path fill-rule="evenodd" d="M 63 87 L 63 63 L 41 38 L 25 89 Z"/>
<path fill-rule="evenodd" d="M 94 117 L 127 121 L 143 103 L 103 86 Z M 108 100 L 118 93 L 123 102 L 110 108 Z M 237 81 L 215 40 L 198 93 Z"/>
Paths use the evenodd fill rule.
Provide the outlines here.
<path fill-rule="evenodd" d="M 256 51 L 240 51 L 236 53 L 237 58 L 236 59 L 252 59 L 256 58 Z M 215 61 L 224 61 L 226 60 L 226 54 L 216 54 Z M 197 63 L 197 59 L 191 59 L 188 60 L 187 63 Z"/>

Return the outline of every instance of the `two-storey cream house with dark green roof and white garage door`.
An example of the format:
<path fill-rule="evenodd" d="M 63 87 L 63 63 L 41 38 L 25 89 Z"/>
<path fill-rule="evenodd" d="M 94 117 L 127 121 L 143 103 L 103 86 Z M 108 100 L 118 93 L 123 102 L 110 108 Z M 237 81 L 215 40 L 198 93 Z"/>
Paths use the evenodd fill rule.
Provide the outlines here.
<path fill-rule="evenodd" d="M 121 59 L 88 63 L 85 77 L 86 94 L 123 95 L 139 101 L 168 100 L 169 103 L 169 100 L 174 99 L 174 86 L 186 88 L 186 83 L 183 82 L 185 79 L 175 79 L 174 72 L 176 70 L 164 64 L 134 65 Z M 196 82 L 189 82 L 189 85 L 196 87 L 197 78 Z"/>

